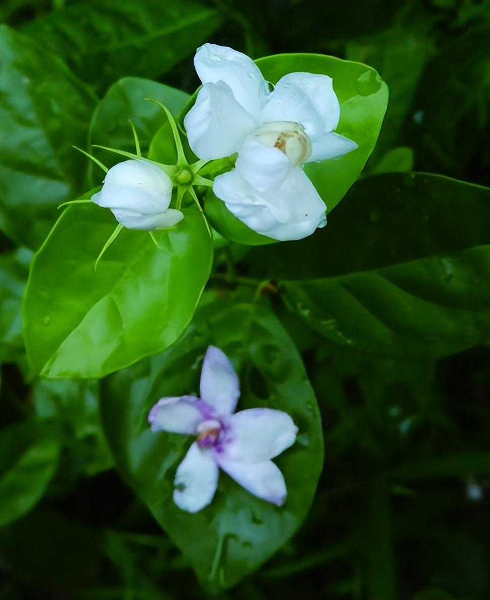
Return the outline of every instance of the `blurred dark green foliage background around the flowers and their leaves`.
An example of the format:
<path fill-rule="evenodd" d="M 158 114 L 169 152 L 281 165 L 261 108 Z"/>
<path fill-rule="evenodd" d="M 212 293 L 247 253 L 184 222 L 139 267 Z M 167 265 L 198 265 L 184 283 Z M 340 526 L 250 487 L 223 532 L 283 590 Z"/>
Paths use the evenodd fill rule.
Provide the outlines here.
<path fill-rule="evenodd" d="M 371 65 L 390 103 L 366 175 L 417 170 L 488 185 L 489 2 L 4 0 L 0 19 L 0 600 L 206 597 L 113 469 L 100 383 L 35 380 L 26 365 L 29 261 L 56 205 L 90 183 L 71 145 L 86 147 L 92 113 L 121 77 L 192 93 L 194 51 L 212 41 L 252 58 L 317 52 Z M 364 201 L 389 200 L 369 181 L 356 188 Z M 465 198 L 451 187 L 442 201 L 464 214 Z M 485 219 L 488 230 L 488 214 L 473 217 L 468 247 L 483 243 Z M 243 274 L 273 277 L 274 252 L 252 251 Z M 333 242 L 329 260 L 342 262 Z M 300 532 L 220 598 L 488 600 L 488 332 L 469 316 L 453 346 L 386 355 L 330 343 L 272 303 L 314 386 L 326 459 Z"/>

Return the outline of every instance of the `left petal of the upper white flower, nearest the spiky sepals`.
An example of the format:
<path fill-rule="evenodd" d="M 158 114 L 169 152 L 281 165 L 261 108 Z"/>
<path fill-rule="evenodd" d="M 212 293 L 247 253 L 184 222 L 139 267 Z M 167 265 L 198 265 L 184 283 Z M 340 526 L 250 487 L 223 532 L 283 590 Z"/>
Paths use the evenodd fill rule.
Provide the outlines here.
<path fill-rule="evenodd" d="M 192 151 L 202 160 L 223 158 L 237 152 L 255 121 L 222 81 L 207 83 L 184 119 Z"/>

